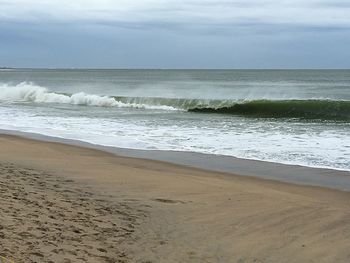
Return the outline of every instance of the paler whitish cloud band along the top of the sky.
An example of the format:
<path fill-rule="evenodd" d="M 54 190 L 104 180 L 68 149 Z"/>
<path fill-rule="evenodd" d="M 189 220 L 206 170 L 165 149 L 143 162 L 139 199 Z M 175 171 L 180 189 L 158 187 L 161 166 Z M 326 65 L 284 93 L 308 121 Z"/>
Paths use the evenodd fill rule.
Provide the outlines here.
<path fill-rule="evenodd" d="M 341 0 L 0 0 L 6 21 L 349 27 Z"/>

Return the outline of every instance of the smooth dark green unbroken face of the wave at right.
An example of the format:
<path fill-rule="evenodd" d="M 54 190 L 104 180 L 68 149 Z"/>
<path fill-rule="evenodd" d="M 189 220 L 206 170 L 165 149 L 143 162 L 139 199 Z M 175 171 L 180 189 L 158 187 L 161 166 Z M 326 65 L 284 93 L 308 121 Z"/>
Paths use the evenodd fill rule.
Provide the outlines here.
<path fill-rule="evenodd" d="M 189 111 L 265 118 L 350 120 L 350 101 L 254 100 L 220 108 L 197 107 L 189 109 Z"/>

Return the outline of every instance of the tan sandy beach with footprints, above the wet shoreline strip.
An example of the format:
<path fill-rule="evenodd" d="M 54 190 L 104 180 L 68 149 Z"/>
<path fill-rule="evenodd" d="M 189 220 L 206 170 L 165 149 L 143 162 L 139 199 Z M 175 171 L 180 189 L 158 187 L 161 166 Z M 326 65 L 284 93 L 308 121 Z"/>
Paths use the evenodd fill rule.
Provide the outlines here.
<path fill-rule="evenodd" d="M 15 262 L 350 262 L 350 193 L 0 137 Z"/>

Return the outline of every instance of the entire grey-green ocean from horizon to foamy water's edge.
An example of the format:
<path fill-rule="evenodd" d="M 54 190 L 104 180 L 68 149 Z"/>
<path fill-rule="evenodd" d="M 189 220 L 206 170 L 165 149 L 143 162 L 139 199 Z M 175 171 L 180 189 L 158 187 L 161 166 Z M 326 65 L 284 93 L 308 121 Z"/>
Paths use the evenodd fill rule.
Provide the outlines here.
<path fill-rule="evenodd" d="M 0 128 L 350 171 L 350 70 L 0 70 Z"/>

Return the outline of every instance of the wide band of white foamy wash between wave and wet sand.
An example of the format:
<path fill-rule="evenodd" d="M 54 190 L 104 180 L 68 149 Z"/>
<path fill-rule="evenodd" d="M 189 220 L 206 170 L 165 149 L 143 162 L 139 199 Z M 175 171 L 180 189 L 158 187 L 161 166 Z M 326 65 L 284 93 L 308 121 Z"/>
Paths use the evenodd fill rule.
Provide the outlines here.
<path fill-rule="evenodd" d="M 155 118 L 155 114 L 133 118 L 94 115 L 93 110 L 78 115 L 55 108 L 45 114 L 45 110 L 0 105 L 0 128 L 104 146 L 201 152 L 350 171 L 348 123 L 215 119 L 206 115 L 179 122 L 181 112 L 170 118 Z"/>

